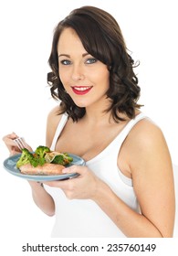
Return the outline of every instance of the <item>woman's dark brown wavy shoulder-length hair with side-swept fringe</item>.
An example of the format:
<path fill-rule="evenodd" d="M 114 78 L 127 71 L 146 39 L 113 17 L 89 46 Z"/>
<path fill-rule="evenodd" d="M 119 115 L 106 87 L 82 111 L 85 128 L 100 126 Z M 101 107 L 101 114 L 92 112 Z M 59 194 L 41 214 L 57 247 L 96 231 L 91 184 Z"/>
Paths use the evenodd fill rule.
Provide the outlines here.
<path fill-rule="evenodd" d="M 68 93 L 58 75 L 58 39 L 62 31 L 73 28 L 78 34 L 83 47 L 94 58 L 98 59 L 110 70 L 110 89 L 107 97 L 115 122 L 120 122 L 119 113 L 125 113 L 129 118 L 135 117 L 135 109 L 140 97 L 138 78 L 133 72 L 133 59 L 128 54 L 120 27 L 113 16 L 104 10 L 93 6 L 83 6 L 73 10 L 55 28 L 52 49 L 48 63 L 52 72 L 47 74 L 51 95 L 60 101 L 60 113 L 67 112 L 73 121 L 78 121 L 85 115 L 85 108 L 78 107 Z"/>

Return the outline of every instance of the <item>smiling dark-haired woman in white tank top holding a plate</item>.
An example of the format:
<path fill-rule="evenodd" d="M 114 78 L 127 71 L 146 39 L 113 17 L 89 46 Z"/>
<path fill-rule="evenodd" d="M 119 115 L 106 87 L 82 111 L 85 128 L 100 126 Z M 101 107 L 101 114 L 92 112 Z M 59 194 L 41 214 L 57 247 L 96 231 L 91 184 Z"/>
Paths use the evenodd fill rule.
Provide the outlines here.
<path fill-rule="evenodd" d="M 49 65 L 60 106 L 48 114 L 47 146 L 86 161 L 64 169 L 77 178 L 29 181 L 37 206 L 56 215 L 52 236 L 172 237 L 171 157 L 160 128 L 140 111 L 115 19 L 92 6 L 72 11 L 55 29 Z M 15 137 L 4 138 L 11 155 Z"/>

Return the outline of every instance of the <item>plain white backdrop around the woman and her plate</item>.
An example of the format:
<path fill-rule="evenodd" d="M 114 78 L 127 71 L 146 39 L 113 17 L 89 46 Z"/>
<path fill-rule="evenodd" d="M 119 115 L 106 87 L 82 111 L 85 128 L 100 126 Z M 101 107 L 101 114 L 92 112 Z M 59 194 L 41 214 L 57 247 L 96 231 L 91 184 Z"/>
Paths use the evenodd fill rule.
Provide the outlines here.
<path fill-rule="evenodd" d="M 0 137 L 16 132 L 32 147 L 45 144 L 47 113 L 58 102 L 47 86 L 47 59 L 58 21 L 82 5 L 105 9 L 120 24 L 141 86 L 140 103 L 157 123 L 169 145 L 173 163 L 177 152 L 177 7 L 173 0 L 9 0 L 0 4 Z M 37 209 L 25 180 L 3 168 L 8 157 L 0 141 L 0 233 L 10 237 L 49 238 L 54 222 Z"/>

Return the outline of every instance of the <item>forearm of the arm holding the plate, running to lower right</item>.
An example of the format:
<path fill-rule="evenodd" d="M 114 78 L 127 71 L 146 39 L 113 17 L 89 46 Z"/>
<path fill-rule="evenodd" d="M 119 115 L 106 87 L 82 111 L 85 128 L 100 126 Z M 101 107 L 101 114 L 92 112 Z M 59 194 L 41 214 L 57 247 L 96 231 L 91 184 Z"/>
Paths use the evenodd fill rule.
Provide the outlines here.
<path fill-rule="evenodd" d="M 126 237 L 162 237 L 149 219 L 129 208 L 105 183 L 98 187 L 94 201 Z"/>

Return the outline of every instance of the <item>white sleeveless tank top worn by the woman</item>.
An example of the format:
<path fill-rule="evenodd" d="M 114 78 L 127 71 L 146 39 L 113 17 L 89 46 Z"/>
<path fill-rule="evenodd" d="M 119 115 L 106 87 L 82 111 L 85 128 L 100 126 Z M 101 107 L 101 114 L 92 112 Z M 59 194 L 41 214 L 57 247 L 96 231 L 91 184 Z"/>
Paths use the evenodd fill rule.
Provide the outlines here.
<path fill-rule="evenodd" d="M 139 212 L 137 197 L 132 187 L 132 180 L 124 176 L 117 165 L 120 146 L 135 123 L 145 118 L 140 113 L 132 119 L 116 138 L 99 155 L 86 162 L 89 169 L 107 183 L 114 193 L 129 207 Z M 55 150 L 58 136 L 68 121 L 68 115 L 63 114 L 55 133 L 51 150 Z M 56 221 L 51 237 L 125 237 L 112 220 L 90 199 L 69 200 L 60 188 L 47 187 L 47 192 L 54 198 L 56 204 Z"/>

